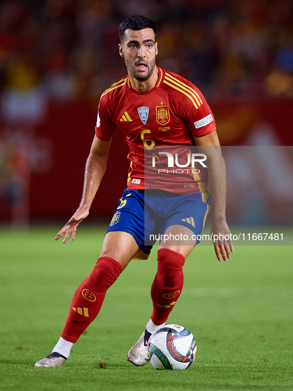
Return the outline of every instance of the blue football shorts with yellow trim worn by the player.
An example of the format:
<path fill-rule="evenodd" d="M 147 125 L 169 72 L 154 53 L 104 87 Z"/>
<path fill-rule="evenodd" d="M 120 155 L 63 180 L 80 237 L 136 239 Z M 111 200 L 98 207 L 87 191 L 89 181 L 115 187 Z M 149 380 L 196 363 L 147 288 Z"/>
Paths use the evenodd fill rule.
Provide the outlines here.
<path fill-rule="evenodd" d="M 134 258 L 147 259 L 156 236 L 164 235 L 171 225 L 187 227 L 196 236 L 201 234 L 210 210 L 210 196 L 207 202 L 202 198 L 201 193 L 179 195 L 162 190 L 124 190 L 106 233 L 128 232 L 146 255 Z"/>

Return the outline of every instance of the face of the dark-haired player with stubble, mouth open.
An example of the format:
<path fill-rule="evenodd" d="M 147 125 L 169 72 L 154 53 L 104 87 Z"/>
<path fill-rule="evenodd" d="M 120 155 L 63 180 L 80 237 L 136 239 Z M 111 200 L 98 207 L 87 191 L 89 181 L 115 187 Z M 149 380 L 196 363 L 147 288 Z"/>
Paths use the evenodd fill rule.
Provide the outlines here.
<path fill-rule="evenodd" d="M 123 44 L 119 44 L 120 56 L 132 76 L 139 81 L 147 80 L 153 73 L 158 54 L 154 30 L 125 30 Z"/>

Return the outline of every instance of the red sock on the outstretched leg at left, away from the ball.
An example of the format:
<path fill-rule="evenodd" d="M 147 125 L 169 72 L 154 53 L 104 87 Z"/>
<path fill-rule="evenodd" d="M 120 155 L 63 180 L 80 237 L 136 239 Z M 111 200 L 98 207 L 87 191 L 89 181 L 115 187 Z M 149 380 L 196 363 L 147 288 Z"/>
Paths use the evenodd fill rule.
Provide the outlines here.
<path fill-rule="evenodd" d="M 99 314 L 107 289 L 117 280 L 122 268 L 109 257 L 98 259 L 91 274 L 74 293 L 61 337 L 76 342 Z"/>

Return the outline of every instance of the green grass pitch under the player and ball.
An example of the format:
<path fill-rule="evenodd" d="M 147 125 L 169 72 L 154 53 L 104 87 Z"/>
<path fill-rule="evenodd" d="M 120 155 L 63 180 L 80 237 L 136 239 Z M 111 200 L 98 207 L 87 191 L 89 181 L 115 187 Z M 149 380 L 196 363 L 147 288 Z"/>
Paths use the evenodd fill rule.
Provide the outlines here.
<path fill-rule="evenodd" d="M 152 311 L 156 251 L 148 261 L 130 262 L 63 367 L 35 368 L 59 339 L 105 227 L 81 226 L 65 245 L 54 241 L 58 230 L 0 230 L 0 389 L 293 390 L 292 246 L 239 246 L 227 262 L 218 262 L 211 246 L 194 249 L 168 320 L 197 341 L 186 371 L 126 361 Z"/>

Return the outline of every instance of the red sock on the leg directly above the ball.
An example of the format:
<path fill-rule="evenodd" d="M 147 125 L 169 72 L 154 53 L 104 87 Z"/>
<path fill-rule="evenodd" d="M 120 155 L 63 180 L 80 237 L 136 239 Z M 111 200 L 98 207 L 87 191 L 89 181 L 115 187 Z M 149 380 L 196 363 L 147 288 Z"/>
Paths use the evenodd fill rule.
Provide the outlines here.
<path fill-rule="evenodd" d="M 153 313 L 156 325 L 166 322 L 183 287 L 182 266 L 185 258 L 169 249 L 158 251 L 158 271 L 151 288 Z"/>

